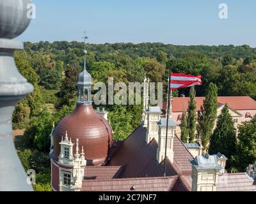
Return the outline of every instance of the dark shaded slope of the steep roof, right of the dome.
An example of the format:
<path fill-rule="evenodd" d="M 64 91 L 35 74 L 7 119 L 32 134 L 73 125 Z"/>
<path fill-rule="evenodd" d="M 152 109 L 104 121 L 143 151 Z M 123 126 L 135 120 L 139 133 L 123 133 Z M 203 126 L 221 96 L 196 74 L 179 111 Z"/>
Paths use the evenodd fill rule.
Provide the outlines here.
<path fill-rule="evenodd" d="M 157 142 L 146 142 L 147 130 L 140 126 L 116 150 L 108 166 L 124 166 L 121 178 L 161 177 L 163 165 L 156 160 Z M 176 175 L 175 167 L 168 162 L 166 175 Z"/>

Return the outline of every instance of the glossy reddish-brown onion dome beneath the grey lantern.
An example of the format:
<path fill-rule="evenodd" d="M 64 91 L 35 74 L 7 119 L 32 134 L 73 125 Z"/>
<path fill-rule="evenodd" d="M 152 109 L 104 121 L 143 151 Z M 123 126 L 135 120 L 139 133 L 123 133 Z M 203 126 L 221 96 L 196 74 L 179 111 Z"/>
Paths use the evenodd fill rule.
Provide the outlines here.
<path fill-rule="evenodd" d="M 75 143 L 79 139 L 79 149 L 84 146 L 84 154 L 93 165 L 104 163 L 108 149 L 112 143 L 112 129 L 108 121 L 95 113 L 92 104 L 77 104 L 76 110 L 63 118 L 54 131 L 54 152 L 57 158 L 60 154 L 61 137 L 72 138 Z"/>

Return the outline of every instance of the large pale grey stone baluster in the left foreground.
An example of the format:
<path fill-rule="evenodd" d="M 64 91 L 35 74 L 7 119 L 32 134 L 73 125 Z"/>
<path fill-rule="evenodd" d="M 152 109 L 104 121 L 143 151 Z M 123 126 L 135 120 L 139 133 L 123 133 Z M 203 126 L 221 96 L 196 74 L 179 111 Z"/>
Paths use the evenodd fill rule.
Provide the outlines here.
<path fill-rule="evenodd" d="M 23 44 L 10 39 L 29 25 L 27 5 L 30 0 L 0 1 L 0 191 L 33 191 L 15 150 L 12 114 L 17 103 L 33 91 L 15 66 L 13 52 Z"/>

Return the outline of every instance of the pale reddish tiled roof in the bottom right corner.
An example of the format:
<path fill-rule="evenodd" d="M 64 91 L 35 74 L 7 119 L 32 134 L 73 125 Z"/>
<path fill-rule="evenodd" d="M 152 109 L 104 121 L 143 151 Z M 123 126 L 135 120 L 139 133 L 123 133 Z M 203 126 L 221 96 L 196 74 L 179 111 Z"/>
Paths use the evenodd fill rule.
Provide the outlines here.
<path fill-rule="evenodd" d="M 256 180 L 246 173 L 227 173 L 219 177 L 217 191 L 256 191 Z"/>

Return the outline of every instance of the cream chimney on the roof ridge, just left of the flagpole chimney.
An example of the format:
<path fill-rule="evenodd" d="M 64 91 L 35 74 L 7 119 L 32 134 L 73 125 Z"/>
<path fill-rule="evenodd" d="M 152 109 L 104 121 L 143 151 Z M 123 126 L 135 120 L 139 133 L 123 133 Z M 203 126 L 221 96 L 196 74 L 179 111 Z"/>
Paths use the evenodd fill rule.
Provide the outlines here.
<path fill-rule="evenodd" d="M 156 139 L 158 142 L 158 126 L 157 123 L 160 120 L 161 109 L 159 106 L 152 106 L 149 107 L 147 110 L 147 135 L 146 135 L 146 142 L 150 143 L 153 138 Z"/>

